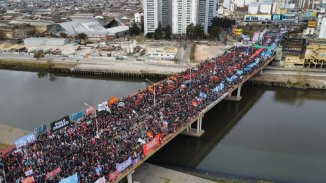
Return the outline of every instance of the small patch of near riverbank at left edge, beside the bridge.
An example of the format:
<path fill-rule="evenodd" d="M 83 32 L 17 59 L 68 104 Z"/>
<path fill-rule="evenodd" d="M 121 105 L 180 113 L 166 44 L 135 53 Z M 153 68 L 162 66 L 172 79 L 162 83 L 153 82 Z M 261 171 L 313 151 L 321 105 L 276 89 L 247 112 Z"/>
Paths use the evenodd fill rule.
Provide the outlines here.
<path fill-rule="evenodd" d="M 0 151 L 13 144 L 18 138 L 31 132 L 0 123 Z"/>

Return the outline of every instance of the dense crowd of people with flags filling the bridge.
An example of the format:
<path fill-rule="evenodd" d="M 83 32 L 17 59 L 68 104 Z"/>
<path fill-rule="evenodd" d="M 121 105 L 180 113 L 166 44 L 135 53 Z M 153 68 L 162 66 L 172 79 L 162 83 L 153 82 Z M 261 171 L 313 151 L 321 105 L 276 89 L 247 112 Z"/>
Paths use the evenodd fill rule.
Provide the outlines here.
<path fill-rule="evenodd" d="M 157 135 L 164 141 L 178 132 L 272 55 L 273 50 L 233 47 L 120 99 L 109 110 L 40 134 L 35 142 L 1 155 L 5 179 L 21 182 L 33 176 L 35 182 L 57 183 L 78 173 L 79 182 L 95 182 L 103 176 L 112 181 L 109 175 L 117 175 L 117 164 L 143 158 L 145 143 Z M 47 176 L 58 168 L 60 173 Z"/>

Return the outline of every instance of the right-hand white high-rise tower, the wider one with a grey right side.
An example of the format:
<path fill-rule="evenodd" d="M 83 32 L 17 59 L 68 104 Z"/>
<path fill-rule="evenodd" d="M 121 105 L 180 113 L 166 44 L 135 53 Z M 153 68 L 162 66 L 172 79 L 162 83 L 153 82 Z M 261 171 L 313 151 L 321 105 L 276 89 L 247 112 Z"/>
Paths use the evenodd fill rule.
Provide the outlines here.
<path fill-rule="evenodd" d="M 201 24 L 207 33 L 216 16 L 217 0 L 174 0 L 172 3 L 172 33 L 185 34 L 191 23 Z"/>

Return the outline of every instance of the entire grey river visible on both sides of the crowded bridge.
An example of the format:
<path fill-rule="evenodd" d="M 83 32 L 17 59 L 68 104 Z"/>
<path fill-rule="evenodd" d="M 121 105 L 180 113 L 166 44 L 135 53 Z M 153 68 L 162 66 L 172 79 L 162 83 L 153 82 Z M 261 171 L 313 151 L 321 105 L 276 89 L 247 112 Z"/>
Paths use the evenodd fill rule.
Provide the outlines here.
<path fill-rule="evenodd" d="M 87 79 L 0 70 L 1 122 L 32 130 L 144 88 L 144 80 Z M 205 134 L 178 136 L 150 162 L 277 182 L 326 182 L 326 92 L 245 86 L 203 119 Z"/>

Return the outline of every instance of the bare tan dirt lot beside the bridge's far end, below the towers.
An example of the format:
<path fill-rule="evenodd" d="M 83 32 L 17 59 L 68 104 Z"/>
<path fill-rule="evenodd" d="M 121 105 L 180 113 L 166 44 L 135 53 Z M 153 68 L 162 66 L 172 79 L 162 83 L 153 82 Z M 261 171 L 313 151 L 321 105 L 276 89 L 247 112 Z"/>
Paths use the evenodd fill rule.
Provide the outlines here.
<path fill-rule="evenodd" d="M 224 44 L 214 46 L 197 44 L 195 52 L 195 63 L 200 63 L 207 58 L 212 58 L 224 53 L 226 47 L 230 46 L 226 46 Z"/>

